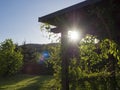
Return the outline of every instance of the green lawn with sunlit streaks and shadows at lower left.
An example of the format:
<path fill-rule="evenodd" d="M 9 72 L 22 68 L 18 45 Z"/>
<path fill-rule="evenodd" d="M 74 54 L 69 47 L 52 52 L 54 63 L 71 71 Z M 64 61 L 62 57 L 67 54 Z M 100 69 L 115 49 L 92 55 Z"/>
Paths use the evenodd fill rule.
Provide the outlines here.
<path fill-rule="evenodd" d="M 52 76 L 16 75 L 0 78 L 0 90 L 49 90 Z"/>

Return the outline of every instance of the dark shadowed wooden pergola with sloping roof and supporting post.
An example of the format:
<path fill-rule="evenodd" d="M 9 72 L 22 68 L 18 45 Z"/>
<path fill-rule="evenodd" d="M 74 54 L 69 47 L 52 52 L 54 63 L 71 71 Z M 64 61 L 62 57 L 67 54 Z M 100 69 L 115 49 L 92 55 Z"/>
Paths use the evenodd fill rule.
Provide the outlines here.
<path fill-rule="evenodd" d="M 111 2 L 112 3 L 111 3 Z M 111 8 L 111 5 L 115 5 Z M 111 8 L 111 10 L 109 9 Z M 101 11 L 107 12 L 106 16 L 102 16 Z M 68 27 L 76 26 L 82 30 L 82 35 L 92 34 L 98 38 L 110 38 L 120 44 L 120 3 L 119 0 L 86 0 L 71 7 L 60 11 L 39 17 L 39 22 L 48 23 L 56 26 L 51 32 L 61 33 L 61 49 L 63 52 L 62 60 L 62 90 L 69 90 L 68 79 L 68 42 L 67 29 Z M 107 17 L 109 15 L 114 22 L 114 27 L 110 28 L 112 22 Z M 99 26 L 100 25 L 100 26 Z M 102 26 L 102 27 L 101 27 Z M 66 56 L 68 55 L 68 56 Z"/>

